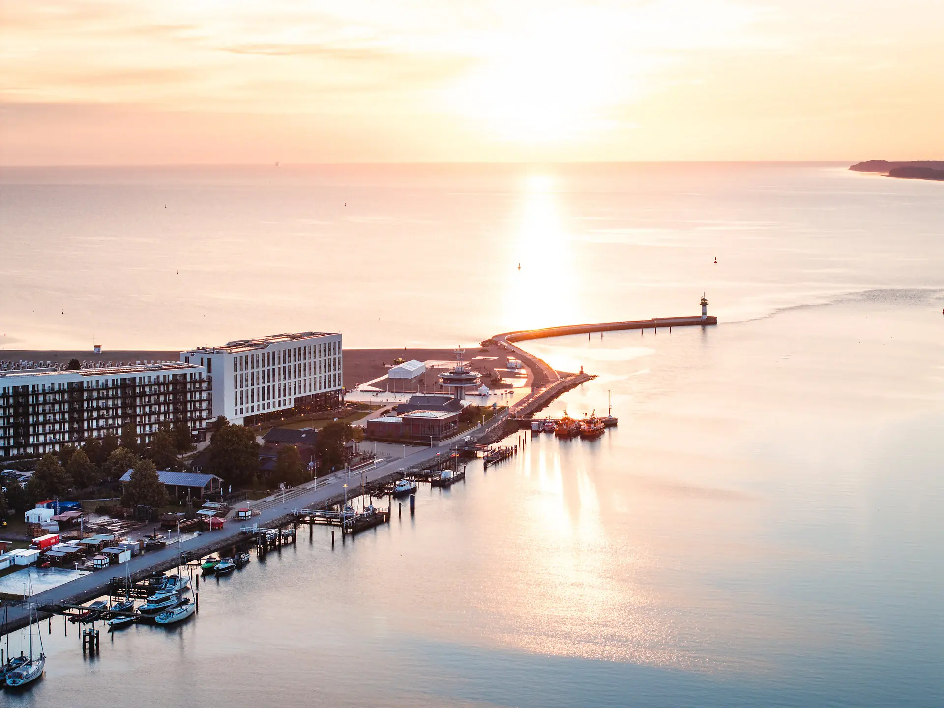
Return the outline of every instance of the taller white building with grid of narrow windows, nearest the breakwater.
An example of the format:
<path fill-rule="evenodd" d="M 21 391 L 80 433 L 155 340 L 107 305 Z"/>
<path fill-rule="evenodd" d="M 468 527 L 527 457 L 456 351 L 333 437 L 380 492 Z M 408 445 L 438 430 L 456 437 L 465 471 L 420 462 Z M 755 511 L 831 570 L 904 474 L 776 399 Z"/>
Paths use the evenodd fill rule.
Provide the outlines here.
<path fill-rule="evenodd" d="M 214 418 L 255 425 L 336 408 L 344 393 L 341 335 L 273 334 L 180 352 L 207 369 Z"/>

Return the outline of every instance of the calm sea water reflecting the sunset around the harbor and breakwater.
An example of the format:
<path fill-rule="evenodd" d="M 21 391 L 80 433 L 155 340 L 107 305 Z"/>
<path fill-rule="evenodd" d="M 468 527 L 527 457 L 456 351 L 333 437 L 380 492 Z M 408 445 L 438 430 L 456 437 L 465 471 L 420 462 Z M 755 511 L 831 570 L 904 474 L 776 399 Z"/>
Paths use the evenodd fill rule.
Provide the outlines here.
<path fill-rule="evenodd" d="M 523 454 L 487 472 L 470 464 L 464 484 L 424 489 L 415 517 L 353 543 L 303 533 L 296 548 L 201 583 L 189 624 L 131 628 L 98 658 L 84 658 L 59 619 L 44 635 L 42 683 L 5 700 L 944 703 L 940 185 L 823 165 L 657 166 L 649 176 L 632 166 L 384 168 L 370 178 L 332 169 L 260 189 L 189 173 L 135 173 L 121 188 L 5 186 L 8 241 L 29 200 L 30 239 L 80 238 L 49 222 L 95 209 L 73 196 L 50 213 L 56 192 L 99 194 L 89 217 L 99 228 L 107 203 L 138 218 L 110 227 L 124 258 L 90 242 L 69 278 L 49 278 L 13 244 L 20 270 L 3 287 L 39 304 L 71 282 L 77 307 L 76 274 L 110 263 L 112 279 L 127 278 L 114 327 L 131 312 L 162 322 L 160 303 L 180 319 L 153 332 L 130 323 L 126 336 L 142 338 L 127 346 L 193 338 L 210 302 L 214 339 L 324 326 L 356 344 L 408 332 L 448 345 L 519 326 L 694 312 L 702 287 L 722 324 L 531 343 L 560 368 L 599 375 L 549 413 L 600 412 L 612 391 L 619 427 L 594 443 L 529 438 Z M 361 196 L 347 209 L 367 199 L 388 221 L 335 214 L 289 234 L 290 213 L 321 209 L 324 194 L 343 199 L 350 175 L 361 182 L 347 194 Z M 206 287 L 189 291 L 187 307 L 154 296 L 173 281 L 159 266 L 184 248 L 185 229 L 161 238 L 141 203 L 126 201 L 160 192 L 201 215 L 207 232 L 194 229 L 191 247 L 217 243 L 216 261 L 190 261 Z M 240 192 L 243 203 L 232 198 Z M 261 221 L 249 213 L 266 203 L 281 205 L 276 226 L 250 236 Z M 82 238 L 95 230 L 74 227 Z M 326 241 L 318 261 L 312 243 Z M 38 254 L 50 268 L 68 261 L 61 249 Z M 131 261 L 137 287 L 118 268 Z M 546 277 L 531 273 L 535 261 Z M 227 298 L 253 269 L 248 285 L 269 290 Z M 108 291 L 100 285 L 90 308 Z M 17 308 L 2 316 L 7 327 L 33 321 Z M 71 330 L 35 322 L 30 345 L 72 342 Z"/>

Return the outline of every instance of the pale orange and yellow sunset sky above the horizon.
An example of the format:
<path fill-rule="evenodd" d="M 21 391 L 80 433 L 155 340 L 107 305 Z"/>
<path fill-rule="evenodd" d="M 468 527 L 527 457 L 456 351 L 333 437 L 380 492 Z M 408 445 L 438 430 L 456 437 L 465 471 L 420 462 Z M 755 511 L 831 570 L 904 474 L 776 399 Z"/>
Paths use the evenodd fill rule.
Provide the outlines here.
<path fill-rule="evenodd" d="M 940 0 L 0 0 L 0 164 L 944 159 Z"/>

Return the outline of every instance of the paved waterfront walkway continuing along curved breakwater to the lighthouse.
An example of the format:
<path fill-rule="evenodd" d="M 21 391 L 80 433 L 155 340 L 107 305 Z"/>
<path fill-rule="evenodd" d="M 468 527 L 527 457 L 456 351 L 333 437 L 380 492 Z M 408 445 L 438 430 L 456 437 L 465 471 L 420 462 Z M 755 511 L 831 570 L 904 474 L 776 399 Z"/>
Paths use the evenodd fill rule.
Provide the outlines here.
<path fill-rule="evenodd" d="M 706 303 L 705 303 L 706 304 Z M 704 310 L 702 309 L 702 312 Z M 499 416 L 478 430 L 469 430 L 464 437 L 472 437 L 479 445 L 487 445 L 500 440 L 518 428 L 515 418 L 529 418 L 531 413 L 543 408 L 556 396 L 561 396 L 586 380 L 592 379 L 589 374 L 565 374 L 552 369 L 548 363 L 534 357 L 514 343 L 532 339 L 560 337 L 571 334 L 593 332 L 619 331 L 626 329 L 671 329 L 673 327 L 704 327 L 717 324 L 716 317 L 666 317 L 649 320 L 629 320 L 624 322 L 607 322 L 591 325 L 574 325 L 548 329 L 533 329 L 515 332 L 506 332 L 496 335 L 499 344 L 514 351 L 521 361 L 531 368 L 533 382 L 531 393 L 517 401 L 509 415 Z M 446 441 L 444 441 L 446 442 Z M 344 471 L 335 472 L 327 477 L 312 480 L 295 487 L 284 495 L 267 497 L 256 504 L 260 515 L 253 518 L 258 531 L 281 529 L 292 526 L 296 529 L 298 523 L 312 523 L 314 514 L 308 514 L 316 509 L 327 510 L 330 506 L 341 503 L 345 498 L 358 497 L 369 494 L 392 480 L 402 478 L 411 470 L 421 469 L 436 460 L 441 455 L 440 447 L 422 447 L 402 459 L 393 459 L 357 473 L 362 485 L 347 486 L 354 479 L 348 477 Z M 505 448 L 506 450 L 509 448 Z M 508 456 L 511 453 L 503 452 L 498 455 Z M 382 512 L 383 523 L 389 521 L 393 515 L 393 506 L 379 510 Z M 306 514 L 308 514 L 306 516 Z M 13 632 L 24 628 L 28 624 L 29 609 L 34 607 L 41 614 L 52 615 L 61 612 L 70 606 L 81 605 L 93 598 L 109 594 L 112 581 L 122 582 L 129 573 L 132 581 L 136 582 L 153 573 L 160 573 L 176 567 L 181 554 L 195 560 L 224 548 L 234 548 L 245 544 L 251 539 L 252 532 L 247 535 L 245 528 L 236 523 L 230 523 L 221 531 L 208 531 L 177 543 L 169 544 L 166 548 L 146 551 L 133 557 L 126 565 L 115 565 L 98 570 L 76 580 L 65 582 L 57 587 L 39 593 L 22 603 L 10 603 L 9 619 L 6 632 Z M 295 532 L 295 539 L 297 532 Z M 281 544 L 279 534 L 279 545 Z"/>

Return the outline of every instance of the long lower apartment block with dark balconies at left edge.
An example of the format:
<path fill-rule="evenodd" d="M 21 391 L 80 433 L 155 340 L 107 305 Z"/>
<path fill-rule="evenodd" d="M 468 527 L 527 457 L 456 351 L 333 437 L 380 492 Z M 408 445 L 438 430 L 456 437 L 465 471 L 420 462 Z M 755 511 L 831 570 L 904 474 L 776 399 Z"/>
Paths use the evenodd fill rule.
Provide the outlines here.
<path fill-rule="evenodd" d="M 194 363 L 0 372 L 0 459 L 120 437 L 126 425 L 144 445 L 163 423 L 202 435 L 210 413 L 206 370 Z"/>

